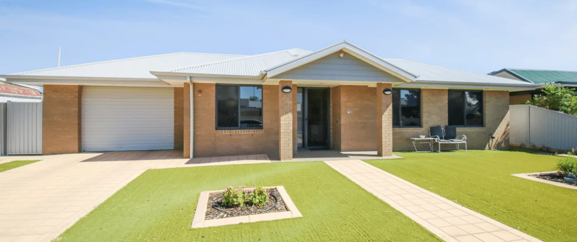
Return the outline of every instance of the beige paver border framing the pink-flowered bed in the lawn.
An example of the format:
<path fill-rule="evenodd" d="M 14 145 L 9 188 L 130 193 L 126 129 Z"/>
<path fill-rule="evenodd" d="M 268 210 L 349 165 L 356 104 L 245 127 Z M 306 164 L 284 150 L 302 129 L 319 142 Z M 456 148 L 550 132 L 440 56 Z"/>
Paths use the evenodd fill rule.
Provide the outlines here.
<path fill-rule="evenodd" d="M 192 228 L 207 228 L 213 226 L 221 225 L 231 225 L 231 224 L 243 224 L 248 222 L 258 222 L 258 221 L 271 221 L 271 220 L 282 220 L 283 218 L 297 218 L 302 217 L 300 211 L 298 211 L 297 206 L 294 205 L 293 201 L 288 196 L 286 190 L 283 186 L 276 187 L 264 187 L 264 188 L 276 188 L 276 191 L 280 194 L 280 199 L 283 200 L 284 206 L 286 206 L 288 211 L 275 212 L 275 213 L 263 213 L 263 214 L 253 214 L 244 215 L 238 217 L 230 218 L 218 218 L 216 220 L 205 220 L 207 214 L 208 197 L 213 192 L 224 192 L 224 190 L 218 191 L 203 191 L 198 197 L 198 203 L 196 205 L 196 211 L 194 211 L 194 218 L 192 220 Z"/>

